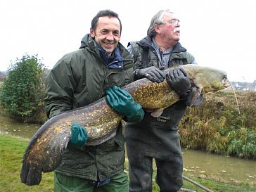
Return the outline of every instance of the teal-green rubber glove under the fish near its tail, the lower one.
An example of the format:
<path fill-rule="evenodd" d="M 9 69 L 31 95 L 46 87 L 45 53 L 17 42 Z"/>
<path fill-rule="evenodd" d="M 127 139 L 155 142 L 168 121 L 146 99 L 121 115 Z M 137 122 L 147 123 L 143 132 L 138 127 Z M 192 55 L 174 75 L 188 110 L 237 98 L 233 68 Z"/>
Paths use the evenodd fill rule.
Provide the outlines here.
<path fill-rule="evenodd" d="M 72 132 L 68 148 L 83 147 L 87 144 L 87 131 L 80 124 L 72 124 Z"/>

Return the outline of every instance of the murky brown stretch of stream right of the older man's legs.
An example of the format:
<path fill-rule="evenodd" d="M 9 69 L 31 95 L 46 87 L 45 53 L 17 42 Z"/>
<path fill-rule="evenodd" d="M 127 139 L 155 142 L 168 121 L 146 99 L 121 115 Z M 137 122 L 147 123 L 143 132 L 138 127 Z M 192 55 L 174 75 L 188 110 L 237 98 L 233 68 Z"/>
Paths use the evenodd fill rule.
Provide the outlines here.
<path fill-rule="evenodd" d="M 202 151 L 183 151 L 184 172 L 188 175 L 233 183 L 256 184 L 256 161 L 209 154 Z"/>

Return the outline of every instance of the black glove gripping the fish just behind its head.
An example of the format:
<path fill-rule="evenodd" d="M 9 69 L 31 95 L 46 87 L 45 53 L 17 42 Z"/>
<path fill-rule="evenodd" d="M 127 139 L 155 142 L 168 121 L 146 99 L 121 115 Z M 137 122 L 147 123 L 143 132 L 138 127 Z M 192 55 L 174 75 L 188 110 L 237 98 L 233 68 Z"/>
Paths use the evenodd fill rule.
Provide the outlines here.
<path fill-rule="evenodd" d="M 169 86 L 181 97 L 191 94 L 190 79 L 183 68 L 172 68 L 166 75 Z"/>

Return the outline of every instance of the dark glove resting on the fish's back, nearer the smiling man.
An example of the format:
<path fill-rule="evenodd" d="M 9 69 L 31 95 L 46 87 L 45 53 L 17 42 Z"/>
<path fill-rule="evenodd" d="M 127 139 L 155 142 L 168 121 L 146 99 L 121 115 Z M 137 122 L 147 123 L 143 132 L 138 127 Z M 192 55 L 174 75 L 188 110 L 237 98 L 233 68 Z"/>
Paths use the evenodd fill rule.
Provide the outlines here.
<path fill-rule="evenodd" d="M 165 73 L 162 70 L 151 66 L 149 68 L 140 69 L 135 72 L 136 78 L 141 79 L 146 77 L 151 80 L 151 82 L 163 82 L 165 79 Z"/>

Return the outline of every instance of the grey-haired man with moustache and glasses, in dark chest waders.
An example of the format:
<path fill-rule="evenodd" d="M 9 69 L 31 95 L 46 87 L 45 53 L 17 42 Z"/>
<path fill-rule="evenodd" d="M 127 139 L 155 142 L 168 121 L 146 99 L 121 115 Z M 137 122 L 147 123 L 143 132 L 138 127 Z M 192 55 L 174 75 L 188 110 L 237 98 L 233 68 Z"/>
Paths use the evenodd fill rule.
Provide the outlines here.
<path fill-rule="evenodd" d="M 179 191 L 183 162 L 178 124 L 190 105 L 199 105 L 203 96 L 191 103 L 193 89 L 182 68 L 173 68 L 164 75 L 162 69 L 195 63 L 194 57 L 179 43 L 179 19 L 169 10 L 153 16 L 148 35 L 141 41 L 130 42 L 128 50 L 134 58 L 134 78 L 146 77 L 153 82 L 165 78 L 180 95 L 180 100 L 166 108 L 159 117 L 145 111 L 141 122 L 125 124 L 124 137 L 129 158 L 129 191 L 152 191 L 153 158 L 157 166 L 155 181 L 161 192 Z"/>

